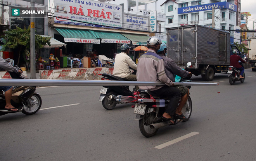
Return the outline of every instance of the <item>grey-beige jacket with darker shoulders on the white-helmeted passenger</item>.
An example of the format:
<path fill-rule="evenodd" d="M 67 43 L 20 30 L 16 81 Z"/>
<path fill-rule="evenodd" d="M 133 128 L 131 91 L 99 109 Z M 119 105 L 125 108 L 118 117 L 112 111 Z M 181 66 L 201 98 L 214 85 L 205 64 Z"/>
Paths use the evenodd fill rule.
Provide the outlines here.
<path fill-rule="evenodd" d="M 168 86 L 173 82 L 164 71 L 164 59 L 156 54 L 154 50 L 148 50 L 138 59 L 137 81 L 161 81 Z M 157 90 L 163 86 L 139 86 L 142 90 Z"/>

